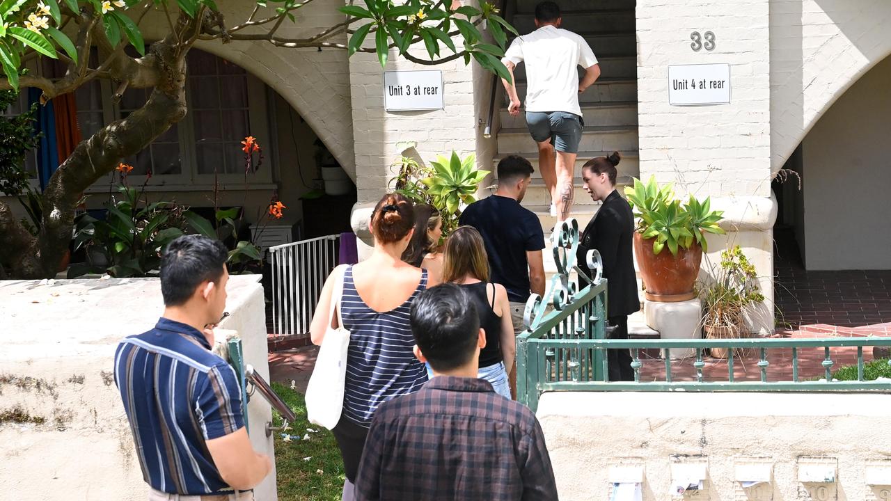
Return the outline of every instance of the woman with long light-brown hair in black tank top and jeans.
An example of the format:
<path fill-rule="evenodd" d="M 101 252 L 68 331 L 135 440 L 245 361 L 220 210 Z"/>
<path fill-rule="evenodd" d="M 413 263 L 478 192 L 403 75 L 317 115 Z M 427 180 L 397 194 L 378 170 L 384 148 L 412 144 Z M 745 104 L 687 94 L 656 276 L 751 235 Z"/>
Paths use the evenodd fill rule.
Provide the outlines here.
<path fill-rule="evenodd" d="M 503 285 L 488 283 L 489 260 L 483 238 L 472 226 L 449 235 L 443 263 L 443 282 L 456 283 L 477 307 L 479 326 L 486 331 L 486 347 L 479 352 L 479 378 L 492 383 L 496 393 L 511 398 L 506 367 L 513 365 L 517 347 L 511 310 Z"/>

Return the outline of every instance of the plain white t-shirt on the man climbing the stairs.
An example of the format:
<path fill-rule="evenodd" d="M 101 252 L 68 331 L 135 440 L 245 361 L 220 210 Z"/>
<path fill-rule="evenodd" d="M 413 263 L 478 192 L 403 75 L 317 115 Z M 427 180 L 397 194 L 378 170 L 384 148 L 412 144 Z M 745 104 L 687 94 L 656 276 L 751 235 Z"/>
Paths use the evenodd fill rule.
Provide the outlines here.
<path fill-rule="evenodd" d="M 578 106 L 578 70 L 597 64 L 591 46 L 566 29 L 545 25 L 514 39 L 502 62 L 526 62 L 526 111 L 567 111 Z"/>

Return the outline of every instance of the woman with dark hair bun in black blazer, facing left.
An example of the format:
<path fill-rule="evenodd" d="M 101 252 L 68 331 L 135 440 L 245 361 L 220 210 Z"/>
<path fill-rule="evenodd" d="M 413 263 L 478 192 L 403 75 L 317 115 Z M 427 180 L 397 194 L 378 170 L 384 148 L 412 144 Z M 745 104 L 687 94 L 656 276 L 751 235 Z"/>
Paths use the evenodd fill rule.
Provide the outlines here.
<path fill-rule="evenodd" d="M 603 277 L 607 279 L 607 318 L 616 329 L 611 339 L 628 339 L 628 316 L 641 309 L 634 277 L 634 214 L 631 206 L 616 191 L 616 166 L 621 157 L 588 160 L 582 167 L 584 191 L 593 201 L 602 201 L 601 209 L 584 228 L 578 244 L 579 267 L 590 277 L 585 255 L 596 249 L 601 253 Z M 631 355 L 627 349 L 609 349 L 609 381 L 634 381 Z"/>

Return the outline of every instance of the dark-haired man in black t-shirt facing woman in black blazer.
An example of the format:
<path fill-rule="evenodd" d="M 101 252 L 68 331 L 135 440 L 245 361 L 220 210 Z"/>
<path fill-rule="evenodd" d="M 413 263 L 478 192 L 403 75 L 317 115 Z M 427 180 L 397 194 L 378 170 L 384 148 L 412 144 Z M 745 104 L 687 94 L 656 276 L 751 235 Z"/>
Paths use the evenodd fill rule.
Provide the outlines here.
<path fill-rule="evenodd" d="M 498 189 L 471 203 L 458 220 L 482 235 L 491 268 L 489 281 L 507 289 L 515 334 L 523 331 L 523 311 L 530 292 L 544 296 L 542 224 L 534 212 L 519 205 L 532 172 L 529 160 L 519 155 L 503 158 L 498 162 Z M 516 371 L 509 372 L 511 393 L 516 394 Z"/>

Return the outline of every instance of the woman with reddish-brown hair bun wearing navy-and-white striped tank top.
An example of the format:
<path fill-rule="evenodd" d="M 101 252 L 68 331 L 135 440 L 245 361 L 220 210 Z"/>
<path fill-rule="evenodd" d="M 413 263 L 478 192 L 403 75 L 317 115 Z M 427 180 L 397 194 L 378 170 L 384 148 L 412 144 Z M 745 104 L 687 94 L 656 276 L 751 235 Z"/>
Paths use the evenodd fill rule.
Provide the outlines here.
<path fill-rule="evenodd" d="M 352 482 L 374 411 L 388 399 L 413 393 L 427 382 L 427 371 L 412 351 L 409 323 L 412 301 L 427 288 L 427 272 L 401 259 L 413 227 L 412 202 L 398 193 L 384 195 L 372 212 L 372 256 L 343 269 L 338 308 L 350 341 L 343 412 L 332 432 L 347 473 L 345 499 L 352 499 Z M 310 325 L 315 344 L 322 344 L 328 327 L 332 289 L 332 281 L 326 281 L 315 307 Z M 337 326 L 336 315 L 332 326 Z"/>

